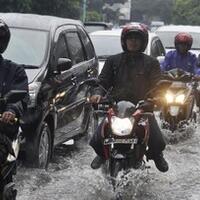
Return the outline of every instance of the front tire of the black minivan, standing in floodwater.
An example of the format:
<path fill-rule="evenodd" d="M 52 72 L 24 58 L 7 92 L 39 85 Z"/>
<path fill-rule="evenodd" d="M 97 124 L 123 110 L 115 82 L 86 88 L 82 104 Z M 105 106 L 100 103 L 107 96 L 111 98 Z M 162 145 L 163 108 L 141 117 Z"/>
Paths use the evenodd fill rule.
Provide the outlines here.
<path fill-rule="evenodd" d="M 49 125 L 46 122 L 42 123 L 33 145 L 29 142 L 28 146 L 26 153 L 28 166 L 46 169 L 52 154 L 52 136 Z"/>

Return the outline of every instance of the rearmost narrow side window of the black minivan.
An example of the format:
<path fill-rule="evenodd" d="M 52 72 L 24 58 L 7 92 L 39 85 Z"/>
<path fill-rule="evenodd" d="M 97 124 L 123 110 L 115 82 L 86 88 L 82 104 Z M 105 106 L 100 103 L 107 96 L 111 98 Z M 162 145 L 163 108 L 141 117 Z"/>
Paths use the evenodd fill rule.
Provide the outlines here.
<path fill-rule="evenodd" d="M 81 37 L 84 47 L 85 47 L 87 60 L 92 59 L 95 57 L 94 48 L 92 46 L 92 43 L 91 43 L 88 35 L 86 34 L 86 32 L 83 30 L 83 28 L 79 27 L 79 29 L 80 29 L 80 37 Z"/>

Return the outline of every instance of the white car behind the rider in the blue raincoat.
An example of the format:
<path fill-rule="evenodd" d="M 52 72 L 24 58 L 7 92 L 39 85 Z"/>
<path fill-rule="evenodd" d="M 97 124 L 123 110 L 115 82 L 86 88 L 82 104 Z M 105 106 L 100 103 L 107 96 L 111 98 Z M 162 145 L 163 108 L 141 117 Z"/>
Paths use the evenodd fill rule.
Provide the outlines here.
<path fill-rule="evenodd" d="M 197 56 L 200 54 L 200 26 L 166 25 L 159 27 L 156 34 L 160 37 L 166 52 L 174 50 L 174 38 L 180 32 L 187 32 L 193 37 L 191 52 Z"/>

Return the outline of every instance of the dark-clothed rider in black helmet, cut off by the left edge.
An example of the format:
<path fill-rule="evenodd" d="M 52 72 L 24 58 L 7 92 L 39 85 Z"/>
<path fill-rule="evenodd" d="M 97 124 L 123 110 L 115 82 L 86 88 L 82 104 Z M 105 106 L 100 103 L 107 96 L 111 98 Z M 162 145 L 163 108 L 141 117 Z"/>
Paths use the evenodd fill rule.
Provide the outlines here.
<path fill-rule="evenodd" d="M 6 161 L 8 153 L 12 153 L 11 141 L 18 132 L 15 118 L 22 116 L 28 102 L 28 79 L 23 66 L 3 58 L 10 41 L 10 30 L 6 23 L 0 20 L 0 97 L 10 90 L 26 90 L 27 96 L 16 103 L 8 103 L 0 107 L 0 165 Z"/>

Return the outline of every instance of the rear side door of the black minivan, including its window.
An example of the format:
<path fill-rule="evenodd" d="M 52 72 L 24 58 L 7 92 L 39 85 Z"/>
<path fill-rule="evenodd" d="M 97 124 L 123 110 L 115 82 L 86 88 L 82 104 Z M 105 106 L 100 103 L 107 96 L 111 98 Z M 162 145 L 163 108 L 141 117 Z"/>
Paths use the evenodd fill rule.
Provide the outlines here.
<path fill-rule="evenodd" d="M 86 99 L 85 90 L 78 90 L 78 88 L 88 77 L 90 69 L 86 50 L 76 26 L 71 25 L 64 30 L 64 40 L 72 67 L 60 74 L 62 80 L 68 80 L 68 87 L 65 87 L 65 84 L 60 86 L 62 89 L 58 95 L 60 100 L 57 103 L 59 109 L 56 135 L 59 143 L 81 132 Z"/>

